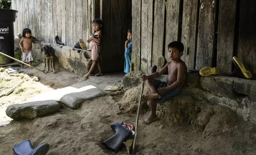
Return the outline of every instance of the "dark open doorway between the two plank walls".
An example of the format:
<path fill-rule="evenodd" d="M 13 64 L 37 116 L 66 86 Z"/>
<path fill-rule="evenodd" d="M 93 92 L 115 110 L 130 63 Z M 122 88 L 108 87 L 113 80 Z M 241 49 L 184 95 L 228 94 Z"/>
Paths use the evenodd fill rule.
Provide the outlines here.
<path fill-rule="evenodd" d="M 132 0 L 100 0 L 103 21 L 101 66 L 104 73 L 124 70 L 124 43 L 132 28 Z"/>

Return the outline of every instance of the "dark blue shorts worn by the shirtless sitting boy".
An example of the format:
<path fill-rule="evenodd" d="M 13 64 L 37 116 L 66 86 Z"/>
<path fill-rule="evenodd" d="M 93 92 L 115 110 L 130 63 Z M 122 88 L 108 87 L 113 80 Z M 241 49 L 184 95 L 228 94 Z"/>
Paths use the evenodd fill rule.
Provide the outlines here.
<path fill-rule="evenodd" d="M 158 79 L 154 79 L 154 85 L 155 89 L 157 90 L 158 88 L 164 88 L 167 87 L 168 84 L 165 81 L 160 81 Z M 161 95 L 159 98 L 155 99 L 156 103 L 164 103 L 168 100 L 173 99 L 175 96 L 178 96 L 182 93 L 182 89 L 180 88 L 174 88 L 169 91 L 166 91 L 163 95 Z"/>

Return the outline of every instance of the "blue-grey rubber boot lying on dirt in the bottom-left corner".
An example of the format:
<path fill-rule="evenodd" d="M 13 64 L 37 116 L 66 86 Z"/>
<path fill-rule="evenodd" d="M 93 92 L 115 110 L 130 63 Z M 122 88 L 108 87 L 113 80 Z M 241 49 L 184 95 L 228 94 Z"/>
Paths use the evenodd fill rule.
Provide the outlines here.
<path fill-rule="evenodd" d="M 49 148 L 49 144 L 40 144 L 33 148 L 30 140 L 25 140 L 12 147 L 12 150 L 16 155 L 46 155 Z"/>

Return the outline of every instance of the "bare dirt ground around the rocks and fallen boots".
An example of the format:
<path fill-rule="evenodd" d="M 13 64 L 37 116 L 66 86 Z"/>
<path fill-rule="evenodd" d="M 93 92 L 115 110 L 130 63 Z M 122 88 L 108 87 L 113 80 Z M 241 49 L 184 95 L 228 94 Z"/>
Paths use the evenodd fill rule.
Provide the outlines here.
<path fill-rule="evenodd" d="M 28 80 L 14 93 L 1 97 L 1 114 L 5 113 L 4 108 L 10 104 L 24 102 L 39 93 L 66 87 L 82 80 L 79 76 L 68 72 L 41 74 L 27 68 L 24 71 L 29 75 L 40 77 L 40 81 Z M 95 87 L 104 89 L 106 85 L 120 81 L 122 76 L 122 74 L 105 75 L 91 77 L 88 80 L 94 83 Z M 18 83 L 21 76 L 0 73 L 0 80 L 0 91 L 3 91 Z M 138 102 L 139 94 L 138 92 L 136 94 L 130 96 L 134 98 L 132 102 Z M 126 98 L 129 98 L 127 94 L 117 93 L 117 95 L 85 101 L 78 110 L 63 107 L 59 113 L 50 116 L 11 121 L 7 126 L 0 127 L 0 152 L 2 155 L 12 155 L 12 147 L 15 144 L 29 139 L 33 146 L 48 143 L 50 150 L 47 155 L 125 155 L 127 154 L 125 148 L 118 152 L 111 151 L 105 148 L 102 142 L 114 134 L 110 127 L 112 122 L 124 121 L 135 125 L 136 110 L 127 113 L 126 109 L 120 108 L 120 102 Z M 141 119 L 149 113 L 146 112 L 147 109 L 148 107 L 142 109 L 145 114 L 140 115 Z M 215 115 L 209 115 L 211 111 Z M 227 115 L 227 112 L 229 111 L 221 106 L 214 106 L 200 113 L 201 119 L 209 117 L 206 122 L 207 131 L 214 133 L 213 130 L 219 126 L 225 126 L 225 130 L 229 131 L 220 134 L 205 134 L 206 130 L 195 130 L 195 127 L 188 123 L 170 123 L 161 118 L 150 125 L 139 123 L 136 154 L 256 155 L 256 125 L 241 121 L 239 118 L 233 120 L 229 127 L 226 126 L 229 123 L 227 121 L 231 121 L 229 119 L 223 124 L 217 124 L 221 122 L 219 119 L 225 118 L 221 116 Z M 224 128 L 219 129 L 224 130 Z"/>

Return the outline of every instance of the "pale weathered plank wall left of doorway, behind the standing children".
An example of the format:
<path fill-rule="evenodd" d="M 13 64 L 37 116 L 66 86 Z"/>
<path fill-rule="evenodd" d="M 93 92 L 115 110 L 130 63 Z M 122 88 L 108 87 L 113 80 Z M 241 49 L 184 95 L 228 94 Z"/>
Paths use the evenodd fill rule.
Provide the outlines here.
<path fill-rule="evenodd" d="M 99 18 L 99 0 L 12 0 L 12 9 L 19 11 L 14 34 L 30 28 L 32 36 L 43 42 L 55 43 L 58 35 L 61 42 L 72 47 L 80 38 L 88 47 L 91 22 Z"/>

